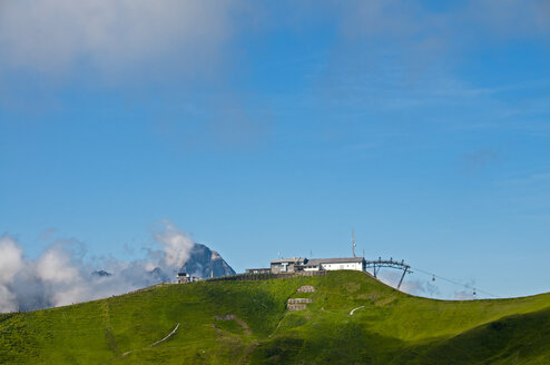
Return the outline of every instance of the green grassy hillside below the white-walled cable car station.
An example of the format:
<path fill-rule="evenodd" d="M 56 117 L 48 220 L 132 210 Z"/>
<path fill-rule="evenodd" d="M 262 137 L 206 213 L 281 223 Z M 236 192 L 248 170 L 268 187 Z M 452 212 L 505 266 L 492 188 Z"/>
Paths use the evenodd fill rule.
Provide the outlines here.
<path fill-rule="evenodd" d="M 297 297 L 313 303 L 288 312 Z M 549 344 L 549 294 L 433 300 L 359 272 L 163 285 L 0 316 L 1 364 L 550 364 Z"/>

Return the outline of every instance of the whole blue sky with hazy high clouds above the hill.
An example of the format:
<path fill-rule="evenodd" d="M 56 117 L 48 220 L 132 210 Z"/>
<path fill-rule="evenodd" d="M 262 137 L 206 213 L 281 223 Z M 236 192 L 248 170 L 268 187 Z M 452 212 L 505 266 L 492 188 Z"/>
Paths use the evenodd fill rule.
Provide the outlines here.
<path fill-rule="evenodd" d="M 548 292 L 548 1 L 0 0 L 0 234 Z"/>

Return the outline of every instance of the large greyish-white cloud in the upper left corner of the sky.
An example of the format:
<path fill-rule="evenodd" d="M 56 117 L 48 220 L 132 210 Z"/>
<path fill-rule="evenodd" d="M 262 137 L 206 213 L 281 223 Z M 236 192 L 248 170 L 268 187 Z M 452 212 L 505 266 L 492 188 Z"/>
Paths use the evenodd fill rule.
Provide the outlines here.
<path fill-rule="evenodd" d="M 178 67 L 214 58 L 233 32 L 238 1 L 18 0 L 0 1 L 4 65 L 62 72 L 75 63 L 122 71 L 181 53 Z"/>

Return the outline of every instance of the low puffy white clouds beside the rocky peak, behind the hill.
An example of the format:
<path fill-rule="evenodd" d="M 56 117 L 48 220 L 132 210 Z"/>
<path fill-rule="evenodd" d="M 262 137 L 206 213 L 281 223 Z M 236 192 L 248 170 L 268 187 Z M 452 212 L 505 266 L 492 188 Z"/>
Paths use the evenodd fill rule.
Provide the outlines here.
<path fill-rule="evenodd" d="M 171 223 L 154 238 L 160 246 L 134 262 L 108 259 L 102 267 L 84 262 L 76 240 L 58 240 L 37 259 L 24 256 L 8 235 L 0 237 L 0 312 L 32 310 L 92 300 L 171 279 L 187 262 L 193 240 Z M 99 275 L 102 269 L 111 275 Z"/>

